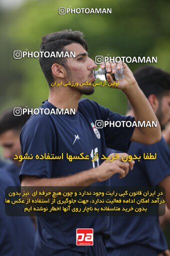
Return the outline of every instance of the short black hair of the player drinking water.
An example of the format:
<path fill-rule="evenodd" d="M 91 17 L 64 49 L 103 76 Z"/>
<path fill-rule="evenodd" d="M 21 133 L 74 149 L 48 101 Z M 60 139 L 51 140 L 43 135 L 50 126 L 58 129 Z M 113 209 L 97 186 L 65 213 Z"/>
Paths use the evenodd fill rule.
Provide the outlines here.
<path fill-rule="evenodd" d="M 72 43 L 78 43 L 87 51 L 88 46 L 86 41 L 83 39 L 83 33 L 80 31 L 63 30 L 55 33 L 48 34 L 42 37 L 42 43 L 40 45 L 40 51 L 42 52 L 64 52 L 64 47 Z M 39 55 L 39 64 L 41 66 L 42 72 L 47 80 L 48 85 L 53 82 L 53 76 L 51 71 L 51 66 L 57 63 L 62 65 L 66 70 L 68 70 L 65 58 L 45 58 L 43 55 Z"/>

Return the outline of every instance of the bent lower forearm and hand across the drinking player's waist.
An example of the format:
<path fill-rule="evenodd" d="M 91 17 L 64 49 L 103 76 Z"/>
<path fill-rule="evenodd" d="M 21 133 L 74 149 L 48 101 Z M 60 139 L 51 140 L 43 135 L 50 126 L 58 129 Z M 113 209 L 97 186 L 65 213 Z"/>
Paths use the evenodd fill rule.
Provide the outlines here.
<path fill-rule="evenodd" d="M 87 171 L 79 172 L 74 175 L 69 175 L 62 178 L 39 178 L 37 176 L 29 176 L 24 175 L 22 177 L 21 186 L 31 186 L 31 187 L 37 187 L 37 186 L 46 186 L 46 187 L 68 187 L 68 186 L 89 186 L 95 182 L 102 182 L 110 178 L 113 174 L 119 173 L 120 178 L 123 178 L 127 173 L 128 169 L 133 168 L 134 161 L 124 163 L 121 161 L 123 157 L 125 157 L 126 153 L 120 153 L 118 154 L 119 158 L 107 162 L 104 161 L 100 166 L 89 169 Z M 110 160 L 112 160 L 112 157 L 114 154 L 111 154 Z"/>

